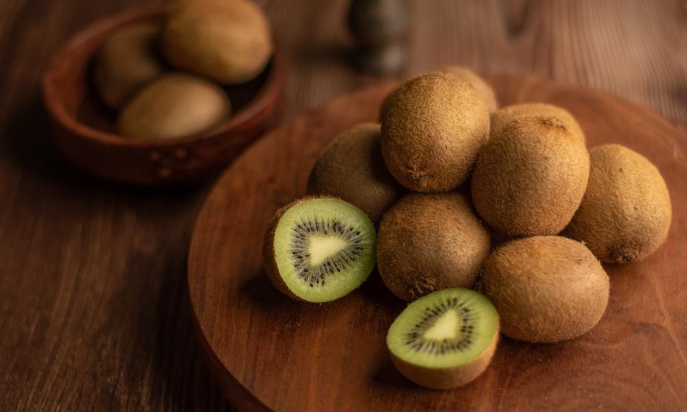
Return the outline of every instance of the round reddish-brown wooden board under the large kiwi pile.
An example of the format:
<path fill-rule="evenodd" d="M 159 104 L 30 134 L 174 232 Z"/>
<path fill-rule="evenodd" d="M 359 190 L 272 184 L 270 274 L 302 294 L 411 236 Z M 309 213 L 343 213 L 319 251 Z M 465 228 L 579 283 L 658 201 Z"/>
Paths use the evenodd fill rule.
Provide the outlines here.
<path fill-rule="evenodd" d="M 379 275 L 330 304 L 292 301 L 262 269 L 262 236 L 278 207 L 304 194 L 322 148 L 375 120 L 392 89 L 346 95 L 297 117 L 225 172 L 196 223 L 188 282 L 212 373 L 240 409 L 445 411 L 687 409 L 687 133 L 598 91 L 533 77 L 491 76 L 502 105 L 570 110 L 589 147 L 617 142 L 661 170 L 673 202 L 666 244 L 644 262 L 607 266 L 611 300 L 585 336 L 554 345 L 502 339 L 477 380 L 451 391 L 412 385 L 392 366 L 385 335 L 405 304 Z"/>

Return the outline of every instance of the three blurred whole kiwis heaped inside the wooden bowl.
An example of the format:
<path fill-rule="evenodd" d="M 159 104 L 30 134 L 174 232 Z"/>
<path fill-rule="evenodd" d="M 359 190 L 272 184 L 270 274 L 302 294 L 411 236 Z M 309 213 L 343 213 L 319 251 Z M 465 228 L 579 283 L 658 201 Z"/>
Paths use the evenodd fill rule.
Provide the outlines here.
<path fill-rule="evenodd" d="M 163 21 L 110 34 L 92 80 L 117 133 L 179 139 L 229 119 L 227 91 L 260 76 L 273 51 L 269 22 L 251 1 L 174 0 Z"/>

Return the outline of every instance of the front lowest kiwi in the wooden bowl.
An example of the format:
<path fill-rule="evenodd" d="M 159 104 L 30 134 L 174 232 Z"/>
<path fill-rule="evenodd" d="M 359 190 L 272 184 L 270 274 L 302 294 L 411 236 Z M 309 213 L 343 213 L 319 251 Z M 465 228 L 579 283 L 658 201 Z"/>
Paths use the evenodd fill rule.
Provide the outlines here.
<path fill-rule="evenodd" d="M 229 97 L 216 84 L 188 74 L 168 73 L 128 102 L 117 129 L 135 139 L 175 139 L 216 126 L 231 110 Z"/>

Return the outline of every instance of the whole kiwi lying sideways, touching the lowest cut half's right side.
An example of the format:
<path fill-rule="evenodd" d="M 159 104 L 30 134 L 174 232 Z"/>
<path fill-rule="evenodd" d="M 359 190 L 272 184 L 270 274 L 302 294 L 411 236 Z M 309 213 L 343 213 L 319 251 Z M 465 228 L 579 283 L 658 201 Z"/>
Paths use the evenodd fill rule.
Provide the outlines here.
<path fill-rule="evenodd" d="M 609 279 L 585 245 L 561 236 L 513 240 L 484 262 L 484 290 L 501 331 L 530 342 L 573 339 L 606 310 Z"/>

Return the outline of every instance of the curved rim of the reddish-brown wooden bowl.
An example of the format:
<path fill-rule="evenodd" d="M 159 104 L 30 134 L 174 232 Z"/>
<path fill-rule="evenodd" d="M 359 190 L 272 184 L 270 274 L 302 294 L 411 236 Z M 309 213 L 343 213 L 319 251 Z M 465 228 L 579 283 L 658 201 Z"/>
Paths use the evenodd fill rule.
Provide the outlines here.
<path fill-rule="evenodd" d="M 76 117 L 70 115 L 63 104 L 63 100 L 60 98 L 60 94 L 56 91 L 55 77 L 57 76 L 58 69 L 64 65 L 66 60 L 71 58 L 71 54 L 83 43 L 88 41 L 89 38 L 97 34 L 113 30 L 115 27 L 124 26 L 128 23 L 135 23 L 146 19 L 152 19 L 155 16 L 162 16 L 166 10 L 168 10 L 166 5 L 139 5 L 127 8 L 121 12 L 106 16 L 103 19 L 93 21 L 93 23 L 90 23 L 85 28 L 69 37 L 64 45 L 58 49 L 58 52 L 54 55 L 43 73 L 41 85 L 43 87 L 43 102 L 45 107 L 48 113 L 58 122 L 58 124 L 60 124 L 60 126 L 67 130 L 72 130 L 82 138 L 113 146 L 128 148 L 174 147 L 180 144 L 189 144 L 232 133 L 235 128 L 249 122 L 256 117 L 260 111 L 267 108 L 271 100 L 273 100 L 272 96 L 281 93 L 281 78 L 283 76 L 284 62 L 278 42 L 273 38 L 274 52 L 271 62 L 269 63 L 269 73 L 258 93 L 238 112 L 229 117 L 229 119 L 209 130 L 179 137 L 177 139 L 131 139 L 123 135 L 109 133 L 88 126 L 80 122 Z"/>

